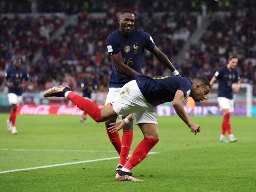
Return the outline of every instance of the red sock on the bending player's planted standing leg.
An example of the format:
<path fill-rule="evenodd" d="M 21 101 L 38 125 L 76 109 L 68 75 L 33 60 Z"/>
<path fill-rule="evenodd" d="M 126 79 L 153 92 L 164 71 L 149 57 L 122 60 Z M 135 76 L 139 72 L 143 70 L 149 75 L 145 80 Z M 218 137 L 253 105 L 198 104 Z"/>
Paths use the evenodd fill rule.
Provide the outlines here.
<path fill-rule="evenodd" d="M 134 149 L 131 158 L 129 158 L 129 160 L 125 163 L 123 167 L 128 170 L 131 170 L 133 167 L 139 164 L 144 158 L 147 157 L 147 154 L 150 151 L 150 149 L 152 149 L 152 147 L 154 147 L 158 141 L 159 139 L 144 137 L 140 144 L 138 144 L 137 147 Z"/>

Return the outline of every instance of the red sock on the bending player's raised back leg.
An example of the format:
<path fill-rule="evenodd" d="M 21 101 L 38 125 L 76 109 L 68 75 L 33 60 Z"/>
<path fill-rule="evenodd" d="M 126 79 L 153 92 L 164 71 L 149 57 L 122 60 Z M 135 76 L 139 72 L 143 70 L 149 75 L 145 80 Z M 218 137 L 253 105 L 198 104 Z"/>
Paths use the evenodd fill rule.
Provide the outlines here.
<path fill-rule="evenodd" d="M 101 110 L 89 99 L 80 97 L 73 92 L 67 95 L 67 99 L 71 100 L 80 110 L 88 113 L 96 122 L 101 122 Z"/>

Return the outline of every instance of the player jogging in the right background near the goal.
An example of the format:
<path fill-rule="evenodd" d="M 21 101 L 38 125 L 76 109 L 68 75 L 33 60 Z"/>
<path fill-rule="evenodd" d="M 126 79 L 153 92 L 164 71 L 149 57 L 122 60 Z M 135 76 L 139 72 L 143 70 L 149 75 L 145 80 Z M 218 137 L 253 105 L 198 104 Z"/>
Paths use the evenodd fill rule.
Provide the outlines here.
<path fill-rule="evenodd" d="M 226 66 L 220 67 L 210 81 L 211 86 L 213 86 L 213 83 L 216 80 L 219 80 L 218 103 L 220 106 L 220 110 L 222 110 L 223 112 L 220 142 L 237 141 L 237 138 L 235 138 L 232 134 L 229 121 L 230 113 L 234 111 L 232 84 L 236 83 L 234 89 L 235 92 L 238 92 L 240 89 L 240 77 L 238 71 L 235 69 L 237 63 L 238 58 L 236 56 L 230 56 L 228 58 L 228 64 Z M 225 138 L 226 131 L 228 132 L 229 141 Z"/>

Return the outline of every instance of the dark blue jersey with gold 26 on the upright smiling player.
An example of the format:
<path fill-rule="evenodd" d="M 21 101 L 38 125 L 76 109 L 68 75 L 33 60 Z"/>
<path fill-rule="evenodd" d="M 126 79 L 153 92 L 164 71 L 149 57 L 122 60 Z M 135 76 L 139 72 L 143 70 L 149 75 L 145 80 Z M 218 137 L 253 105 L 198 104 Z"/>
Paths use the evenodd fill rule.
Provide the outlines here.
<path fill-rule="evenodd" d="M 107 51 L 109 55 L 117 54 L 121 51 L 124 63 L 142 74 L 141 62 L 144 48 L 151 50 L 155 47 L 152 37 L 143 31 L 132 29 L 129 37 L 125 38 L 120 30 L 116 30 L 107 37 Z M 116 69 L 112 63 L 112 73 L 109 80 L 109 87 L 120 88 L 131 81 L 131 78 Z"/>

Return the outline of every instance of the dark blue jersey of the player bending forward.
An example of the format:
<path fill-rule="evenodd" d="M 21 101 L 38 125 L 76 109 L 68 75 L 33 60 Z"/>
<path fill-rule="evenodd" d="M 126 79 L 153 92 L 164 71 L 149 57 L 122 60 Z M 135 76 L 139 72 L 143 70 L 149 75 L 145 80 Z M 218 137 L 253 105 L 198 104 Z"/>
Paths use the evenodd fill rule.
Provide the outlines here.
<path fill-rule="evenodd" d="M 142 95 L 148 103 L 152 101 L 161 101 L 161 103 L 170 102 L 174 99 L 177 90 L 184 93 L 186 99 L 192 90 L 190 79 L 180 76 L 155 76 L 145 75 L 134 76 Z"/>

